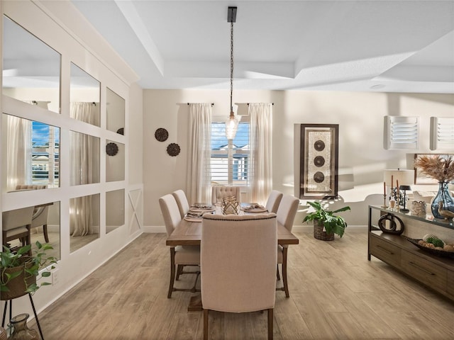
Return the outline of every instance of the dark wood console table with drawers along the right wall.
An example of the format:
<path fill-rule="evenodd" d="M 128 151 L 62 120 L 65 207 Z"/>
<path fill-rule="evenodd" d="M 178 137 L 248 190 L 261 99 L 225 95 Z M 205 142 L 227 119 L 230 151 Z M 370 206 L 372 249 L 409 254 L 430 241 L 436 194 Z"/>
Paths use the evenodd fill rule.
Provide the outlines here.
<path fill-rule="evenodd" d="M 377 226 L 380 216 L 388 213 L 396 215 L 404 222 L 404 232 L 401 235 L 384 233 Z M 445 222 L 430 217 L 417 217 L 379 205 L 369 205 L 368 225 L 369 261 L 373 255 L 454 301 L 454 259 L 429 254 L 405 238 L 422 239 L 425 234 L 432 233 L 446 242 L 453 243 L 452 220 Z"/>

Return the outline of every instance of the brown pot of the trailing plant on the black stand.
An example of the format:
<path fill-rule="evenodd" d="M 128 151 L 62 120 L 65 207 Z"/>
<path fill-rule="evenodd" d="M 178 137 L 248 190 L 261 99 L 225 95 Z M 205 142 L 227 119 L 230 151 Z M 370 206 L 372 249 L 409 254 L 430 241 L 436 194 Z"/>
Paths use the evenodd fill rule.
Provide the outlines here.
<path fill-rule="evenodd" d="M 21 297 L 23 295 L 28 294 L 26 292 L 27 288 L 30 285 L 33 285 L 33 283 L 36 283 L 36 276 L 30 275 L 26 273 L 25 268 L 31 268 L 33 266 L 33 262 L 27 262 L 29 261 L 30 258 L 24 257 L 23 261 L 25 264 L 13 268 L 6 268 L 5 273 L 16 273 L 18 271 L 21 271 L 21 275 L 17 276 L 16 278 L 13 278 L 9 280 L 8 283 L 6 283 L 6 288 L 9 290 L 7 292 L 0 292 L 0 300 L 7 301 L 7 300 L 13 300 L 16 299 L 16 297 Z M 2 270 L 3 272 L 3 270 Z M 2 274 L 3 275 L 3 274 Z M 1 278 L 2 281 L 4 281 L 4 278 Z"/>

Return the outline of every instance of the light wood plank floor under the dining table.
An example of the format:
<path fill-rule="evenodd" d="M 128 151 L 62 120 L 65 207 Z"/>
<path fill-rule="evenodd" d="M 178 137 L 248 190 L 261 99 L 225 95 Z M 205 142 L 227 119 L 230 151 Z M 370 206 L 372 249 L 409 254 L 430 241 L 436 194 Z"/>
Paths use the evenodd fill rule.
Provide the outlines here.
<path fill-rule="evenodd" d="M 454 302 L 367 261 L 366 233 L 334 242 L 297 236 L 290 297 L 276 293 L 274 339 L 454 339 Z M 187 312 L 192 293 L 167 299 L 169 261 L 165 234 L 141 235 L 40 313 L 45 340 L 202 339 L 202 313 Z M 209 320 L 211 339 L 266 339 L 266 324 L 261 312 L 211 312 Z"/>

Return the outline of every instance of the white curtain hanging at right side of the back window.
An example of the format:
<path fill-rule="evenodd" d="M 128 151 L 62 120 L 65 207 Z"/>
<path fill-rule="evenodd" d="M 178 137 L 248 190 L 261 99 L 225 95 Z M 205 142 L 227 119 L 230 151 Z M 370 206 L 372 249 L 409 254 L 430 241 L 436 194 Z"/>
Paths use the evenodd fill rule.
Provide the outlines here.
<path fill-rule="evenodd" d="M 272 191 L 272 103 L 250 103 L 249 119 L 250 196 L 264 204 Z"/>

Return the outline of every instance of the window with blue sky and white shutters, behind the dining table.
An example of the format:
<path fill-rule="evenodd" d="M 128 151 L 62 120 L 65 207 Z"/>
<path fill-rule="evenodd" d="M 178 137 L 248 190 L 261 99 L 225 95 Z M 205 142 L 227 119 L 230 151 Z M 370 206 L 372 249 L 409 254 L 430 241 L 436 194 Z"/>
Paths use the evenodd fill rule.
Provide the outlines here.
<path fill-rule="evenodd" d="M 246 186 L 248 181 L 249 122 L 240 122 L 232 141 L 226 124 L 211 123 L 211 183 Z"/>

